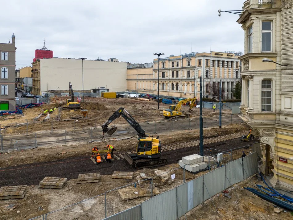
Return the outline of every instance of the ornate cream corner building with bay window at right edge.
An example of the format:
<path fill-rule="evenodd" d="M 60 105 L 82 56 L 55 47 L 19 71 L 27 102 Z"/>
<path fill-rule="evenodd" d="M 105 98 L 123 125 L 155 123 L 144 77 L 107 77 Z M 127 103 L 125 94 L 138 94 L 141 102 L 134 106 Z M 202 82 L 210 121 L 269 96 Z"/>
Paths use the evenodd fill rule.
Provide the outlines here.
<path fill-rule="evenodd" d="M 248 0 L 244 30 L 241 118 L 259 136 L 260 169 L 275 188 L 293 188 L 293 1 Z M 262 62 L 269 61 L 269 62 Z M 275 63 L 274 63 L 275 62 Z"/>

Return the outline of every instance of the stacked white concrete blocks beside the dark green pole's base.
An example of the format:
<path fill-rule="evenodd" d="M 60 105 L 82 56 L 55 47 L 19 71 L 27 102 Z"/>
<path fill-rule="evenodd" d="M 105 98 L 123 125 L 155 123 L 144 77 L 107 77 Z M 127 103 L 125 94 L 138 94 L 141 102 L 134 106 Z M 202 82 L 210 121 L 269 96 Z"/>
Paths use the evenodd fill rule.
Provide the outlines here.
<path fill-rule="evenodd" d="M 181 167 L 185 165 L 185 169 L 193 173 L 207 168 L 207 163 L 203 162 L 203 160 L 203 156 L 193 154 L 182 157 L 182 160 L 179 160 L 178 164 Z"/>

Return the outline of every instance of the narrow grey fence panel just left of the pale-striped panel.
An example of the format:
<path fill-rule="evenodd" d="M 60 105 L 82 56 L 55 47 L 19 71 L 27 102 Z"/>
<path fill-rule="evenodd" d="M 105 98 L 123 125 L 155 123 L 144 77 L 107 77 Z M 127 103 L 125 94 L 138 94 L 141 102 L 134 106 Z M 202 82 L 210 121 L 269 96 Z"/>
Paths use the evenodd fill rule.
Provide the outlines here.
<path fill-rule="evenodd" d="M 188 183 L 177 187 L 177 217 L 188 212 Z"/>

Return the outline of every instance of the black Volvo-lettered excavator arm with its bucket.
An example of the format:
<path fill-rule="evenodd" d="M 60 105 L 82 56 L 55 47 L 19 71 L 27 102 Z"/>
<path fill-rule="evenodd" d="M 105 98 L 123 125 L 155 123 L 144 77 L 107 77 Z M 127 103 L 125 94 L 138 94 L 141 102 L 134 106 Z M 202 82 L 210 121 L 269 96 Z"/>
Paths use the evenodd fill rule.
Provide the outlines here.
<path fill-rule="evenodd" d="M 147 137 L 146 132 L 142 129 L 140 124 L 135 121 L 135 119 L 129 114 L 124 108 L 119 108 L 115 111 L 109 119 L 102 125 L 103 133 L 107 133 L 108 135 L 112 135 L 116 130 L 117 127 L 108 128 L 108 125 L 113 122 L 116 118 L 122 116 L 133 128 L 137 131 L 137 135 L 139 138 Z"/>

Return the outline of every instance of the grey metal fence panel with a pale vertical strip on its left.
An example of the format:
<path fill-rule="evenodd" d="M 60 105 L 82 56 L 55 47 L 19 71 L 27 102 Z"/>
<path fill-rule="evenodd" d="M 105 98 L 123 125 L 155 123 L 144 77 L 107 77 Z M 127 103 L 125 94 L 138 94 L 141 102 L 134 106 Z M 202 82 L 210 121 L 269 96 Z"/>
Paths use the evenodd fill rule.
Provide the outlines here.
<path fill-rule="evenodd" d="M 196 179 L 187 183 L 188 187 L 188 210 L 192 210 L 197 205 L 203 202 L 203 184 L 204 176 L 197 177 Z"/>

